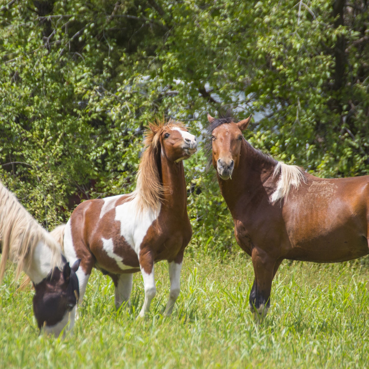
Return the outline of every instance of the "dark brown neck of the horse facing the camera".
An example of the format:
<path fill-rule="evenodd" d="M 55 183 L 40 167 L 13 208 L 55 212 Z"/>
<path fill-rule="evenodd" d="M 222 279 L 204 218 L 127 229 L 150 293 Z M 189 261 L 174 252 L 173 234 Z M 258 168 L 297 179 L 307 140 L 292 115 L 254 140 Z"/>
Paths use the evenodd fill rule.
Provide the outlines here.
<path fill-rule="evenodd" d="M 253 206 L 253 199 L 261 199 L 272 192 L 274 167 L 251 145 L 242 144 L 238 167 L 234 169 L 232 178 L 222 180 L 218 175 L 221 194 L 232 216 L 240 206 Z"/>

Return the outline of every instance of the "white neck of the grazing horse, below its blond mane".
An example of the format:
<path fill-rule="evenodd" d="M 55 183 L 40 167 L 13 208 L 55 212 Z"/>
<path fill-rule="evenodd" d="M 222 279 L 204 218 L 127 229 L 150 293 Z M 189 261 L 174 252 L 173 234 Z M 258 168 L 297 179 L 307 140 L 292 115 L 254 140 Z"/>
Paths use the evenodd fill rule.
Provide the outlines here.
<path fill-rule="evenodd" d="M 24 266 L 24 272 L 30 277 L 33 283 L 37 284 L 47 277 L 53 268 L 53 254 L 51 249 L 43 241 L 39 241 L 31 257 L 30 263 L 26 263 Z M 59 261 L 57 260 L 56 262 Z"/>

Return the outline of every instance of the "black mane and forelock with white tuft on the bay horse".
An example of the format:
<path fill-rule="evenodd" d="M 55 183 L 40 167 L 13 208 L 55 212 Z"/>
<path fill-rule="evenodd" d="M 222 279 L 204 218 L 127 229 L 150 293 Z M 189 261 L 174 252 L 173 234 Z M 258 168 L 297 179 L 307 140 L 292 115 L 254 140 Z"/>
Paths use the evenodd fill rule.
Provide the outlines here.
<path fill-rule="evenodd" d="M 215 130 L 215 128 L 219 127 L 222 124 L 234 123 L 233 118 L 230 115 L 230 110 L 225 114 L 220 114 L 219 118 L 214 118 L 211 123 L 207 127 L 207 131 L 209 134 Z M 304 170 L 297 165 L 288 165 L 283 162 L 279 162 L 272 158 L 272 156 L 265 154 L 259 149 L 255 149 L 248 141 L 245 141 L 246 147 L 255 154 L 255 156 L 263 162 L 268 162 L 272 166 L 274 166 L 273 177 L 280 175 L 280 180 L 277 185 L 277 190 L 275 193 L 276 199 L 272 199 L 272 201 L 276 201 L 279 199 L 287 199 L 287 196 L 290 192 L 292 186 L 298 187 L 301 182 L 306 182 L 306 176 Z M 212 141 L 208 140 L 206 143 L 206 152 L 208 153 L 208 163 L 207 168 L 210 168 L 212 164 L 212 156 L 210 155 L 212 151 Z M 274 196 L 273 196 L 274 197 Z"/>

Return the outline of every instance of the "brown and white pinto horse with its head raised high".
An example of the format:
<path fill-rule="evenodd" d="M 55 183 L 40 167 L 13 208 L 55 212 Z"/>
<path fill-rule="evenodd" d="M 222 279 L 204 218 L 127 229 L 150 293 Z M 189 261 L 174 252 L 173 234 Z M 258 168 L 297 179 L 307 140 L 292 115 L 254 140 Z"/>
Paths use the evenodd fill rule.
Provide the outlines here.
<path fill-rule="evenodd" d="M 149 124 L 145 151 L 130 194 L 87 200 L 73 211 L 64 233 L 70 262 L 77 271 L 80 301 L 93 267 L 108 274 L 115 286 L 115 305 L 130 304 L 132 273 L 141 270 L 145 299 L 140 316 L 149 311 L 156 293 L 154 263 L 169 263 L 171 314 L 180 291 L 183 251 L 192 236 L 187 215 L 183 159 L 196 151 L 196 138 L 182 123 Z"/>

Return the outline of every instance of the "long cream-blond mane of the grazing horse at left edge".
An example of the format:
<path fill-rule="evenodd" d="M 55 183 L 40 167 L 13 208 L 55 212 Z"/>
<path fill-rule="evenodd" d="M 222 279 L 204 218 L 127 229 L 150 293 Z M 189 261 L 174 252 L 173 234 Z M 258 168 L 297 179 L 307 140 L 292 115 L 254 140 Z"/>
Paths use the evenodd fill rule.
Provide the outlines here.
<path fill-rule="evenodd" d="M 30 266 L 32 254 L 39 241 L 45 242 L 52 252 L 51 268 L 61 267 L 60 246 L 0 183 L 0 282 L 4 277 L 7 259 L 17 263 L 17 279 L 24 267 Z"/>

